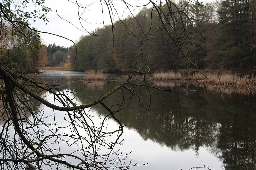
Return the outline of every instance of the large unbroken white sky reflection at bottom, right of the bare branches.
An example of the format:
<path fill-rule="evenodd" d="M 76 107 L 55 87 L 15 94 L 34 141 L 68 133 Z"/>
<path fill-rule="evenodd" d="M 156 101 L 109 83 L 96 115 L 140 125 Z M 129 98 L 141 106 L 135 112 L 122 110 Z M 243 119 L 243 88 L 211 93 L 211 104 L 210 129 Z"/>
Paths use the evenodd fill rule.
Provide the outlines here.
<path fill-rule="evenodd" d="M 222 163 L 202 147 L 199 156 L 196 157 L 193 149 L 183 152 L 172 151 L 165 145 L 159 145 L 152 140 L 143 140 L 138 133 L 133 130 L 125 130 L 124 146 L 122 151 L 132 151 L 133 162 L 138 164 L 148 163 L 147 166 L 138 166 L 131 169 L 190 169 L 193 166 L 213 165 L 215 169 L 222 169 Z"/>

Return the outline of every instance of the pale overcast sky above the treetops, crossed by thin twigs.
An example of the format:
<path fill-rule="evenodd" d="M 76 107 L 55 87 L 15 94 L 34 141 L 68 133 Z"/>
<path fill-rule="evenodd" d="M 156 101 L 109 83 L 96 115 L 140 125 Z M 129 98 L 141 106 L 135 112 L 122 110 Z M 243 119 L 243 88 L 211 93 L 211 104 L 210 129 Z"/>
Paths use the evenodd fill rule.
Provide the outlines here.
<path fill-rule="evenodd" d="M 75 0 L 73 0 L 75 2 Z M 78 1 L 78 0 L 77 0 Z M 106 0 L 107 1 L 107 0 Z M 158 0 L 160 2 L 160 0 Z M 163 1 L 163 0 L 162 0 Z M 81 3 L 83 6 L 88 6 L 84 10 L 83 8 L 79 9 L 79 14 L 82 14 L 82 18 L 84 21 L 81 21 L 83 27 L 89 31 L 92 32 L 98 27 L 103 26 L 102 22 L 102 9 L 99 0 L 83 0 L 85 3 Z M 107 1 L 108 2 L 108 1 Z M 131 15 L 131 12 L 126 8 L 124 2 L 121 0 L 112 0 L 116 10 L 118 11 L 118 16 L 120 18 L 125 18 L 128 15 Z M 132 13 L 137 14 L 142 7 L 136 8 L 135 11 L 134 7 L 142 4 L 147 4 L 148 0 L 126 0 L 127 3 L 131 4 L 133 7 L 131 7 Z M 157 0 L 155 1 L 157 2 Z M 68 39 L 73 40 L 76 42 L 82 35 L 88 35 L 86 31 L 83 29 L 81 24 L 79 23 L 79 18 L 78 18 L 78 6 L 75 3 L 72 3 L 69 0 L 49 0 L 46 1 L 46 4 L 48 7 L 52 9 L 47 15 L 47 19 L 50 21 L 47 25 L 44 24 L 40 19 L 37 19 L 36 22 L 31 22 L 32 26 L 35 27 L 39 31 L 44 31 L 44 32 L 51 32 L 54 34 L 58 34 L 60 36 L 64 36 Z M 56 3 L 56 6 L 55 6 Z M 109 13 L 108 13 L 108 8 L 106 4 L 103 5 L 103 16 L 104 16 L 104 24 L 109 25 L 111 24 L 110 18 L 109 18 Z M 150 5 L 151 6 L 151 5 Z M 59 16 L 61 18 L 64 18 L 68 20 L 70 23 L 75 25 L 71 25 L 67 21 L 64 21 L 61 19 L 57 13 L 56 13 L 56 8 Z M 149 6 L 148 6 L 149 7 Z M 115 9 L 112 9 L 115 10 Z M 113 11 L 113 15 L 115 12 Z M 117 15 L 115 15 L 115 19 L 117 19 Z M 42 42 L 46 45 L 49 43 L 53 44 L 56 43 L 56 45 L 60 46 L 66 46 L 69 47 L 72 45 L 72 42 L 59 38 L 53 35 L 49 34 L 43 34 L 41 33 L 41 38 Z"/>

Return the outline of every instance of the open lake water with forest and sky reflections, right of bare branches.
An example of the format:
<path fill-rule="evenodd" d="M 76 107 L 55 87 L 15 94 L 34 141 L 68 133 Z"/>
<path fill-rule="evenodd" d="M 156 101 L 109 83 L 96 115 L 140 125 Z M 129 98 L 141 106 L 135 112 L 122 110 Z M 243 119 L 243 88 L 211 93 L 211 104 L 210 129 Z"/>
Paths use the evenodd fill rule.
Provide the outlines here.
<path fill-rule="evenodd" d="M 51 71 L 37 75 L 48 83 L 58 82 L 60 89 L 80 89 L 83 73 Z M 120 82 L 92 82 L 79 93 L 78 103 L 88 103 L 103 96 Z M 161 84 L 158 84 L 161 85 Z M 172 92 L 137 89 L 128 108 L 118 113 L 126 124 L 121 151 L 131 152 L 134 166 L 130 169 L 190 169 L 209 166 L 211 169 L 256 169 L 255 95 L 221 93 L 182 84 L 164 84 Z M 131 94 L 124 91 L 124 103 Z M 111 106 L 123 100 L 122 92 L 109 96 Z M 48 96 L 48 101 L 52 101 Z M 45 108 L 45 111 L 49 109 Z M 95 106 L 94 114 L 106 111 Z M 116 122 L 109 121 L 116 127 Z"/>

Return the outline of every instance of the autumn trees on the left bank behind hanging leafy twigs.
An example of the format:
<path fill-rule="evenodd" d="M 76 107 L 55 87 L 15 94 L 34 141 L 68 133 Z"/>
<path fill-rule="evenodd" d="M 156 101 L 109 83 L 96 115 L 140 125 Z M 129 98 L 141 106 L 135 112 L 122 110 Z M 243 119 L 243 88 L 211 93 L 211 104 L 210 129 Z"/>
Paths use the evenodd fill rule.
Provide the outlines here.
<path fill-rule="evenodd" d="M 36 32 L 31 32 L 30 41 L 28 42 L 21 39 L 20 35 L 6 22 L 1 24 L 0 52 L 2 53 L 2 65 L 8 65 L 8 67 L 12 67 L 10 69 L 24 73 L 37 71 L 47 64 L 47 48 L 40 42 L 40 37 Z M 28 43 L 29 45 L 24 47 L 24 44 Z"/>

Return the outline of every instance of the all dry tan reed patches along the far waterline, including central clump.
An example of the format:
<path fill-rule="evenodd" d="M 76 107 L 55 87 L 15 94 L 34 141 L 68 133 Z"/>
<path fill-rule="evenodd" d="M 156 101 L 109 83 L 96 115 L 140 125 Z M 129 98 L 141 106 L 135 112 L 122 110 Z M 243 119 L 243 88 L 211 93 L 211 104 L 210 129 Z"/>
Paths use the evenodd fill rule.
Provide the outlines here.
<path fill-rule="evenodd" d="M 69 65 L 59 67 L 42 67 L 41 70 L 72 70 Z M 121 74 L 119 74 L 121 73 Z M 88 70 L 84 72 L 84 81 L 104 81 L 108 80 L 106 72 L 102 70 Z M 113 74 L 113 73 L 112 73 Z M 115 74 L 115 73 L 114 73 Z M 116 76 L 116 80 L 125 79 L 125 73 L 116 72 L 119 74 Z M 193 84 L 213 84 L 213 85 L 224 85 L 224 86 L 237 86 L 241 88 L 251 89 L 255 87 L 255 73 L 243 74 L 233 73 L 228 70 L 169 70 L 160 71 L 148 74 L 148 79 L 154 82 L 175 82 L 178 83 L 193 83 Z M 170 83 L 166 83 L 167 85 Z M 159 84 L 160 85 L 160 84 Z M 160 85 L 161 86 L 161 85 Z"/>

